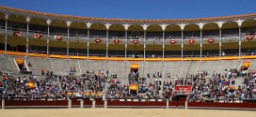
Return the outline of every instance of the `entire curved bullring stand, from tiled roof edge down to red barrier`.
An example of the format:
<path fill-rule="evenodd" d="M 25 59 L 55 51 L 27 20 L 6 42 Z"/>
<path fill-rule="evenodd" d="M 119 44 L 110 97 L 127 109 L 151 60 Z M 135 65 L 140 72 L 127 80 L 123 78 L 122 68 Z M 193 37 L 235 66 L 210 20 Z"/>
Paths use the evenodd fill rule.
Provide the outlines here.
<path fill-rule="evenodd" d="M 1 107 L 255 110 L 255 19 L 105 19 L 0 7 Z"/>

